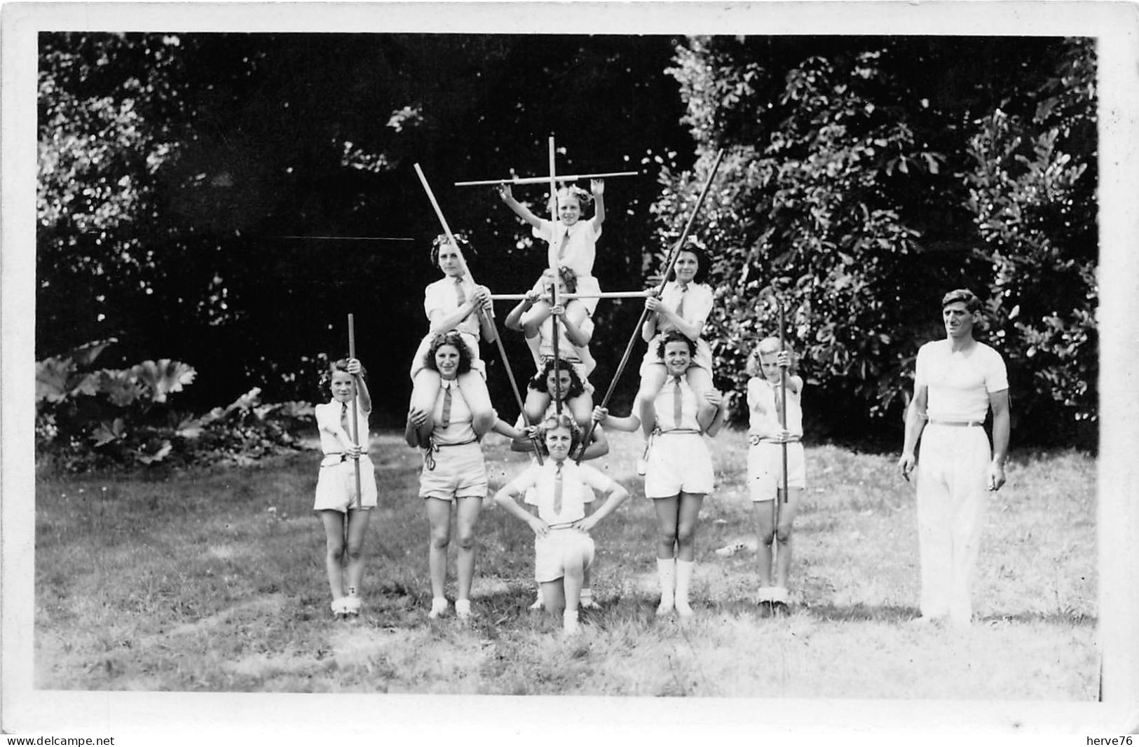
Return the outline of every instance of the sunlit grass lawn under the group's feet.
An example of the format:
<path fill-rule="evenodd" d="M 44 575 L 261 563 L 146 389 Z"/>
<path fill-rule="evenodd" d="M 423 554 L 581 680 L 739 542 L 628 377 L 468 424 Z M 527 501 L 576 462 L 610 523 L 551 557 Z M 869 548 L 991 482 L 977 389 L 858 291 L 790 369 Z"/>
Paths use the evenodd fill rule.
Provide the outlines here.
<path fill-rule="evenodd" d="M 34 684 L 46 689 L 409 692 L 786 698 L 1082 700 L 1097 696 L 1095 460 L 1015 453 L 986 517 L 975 584 L 982 621 L 915 629 L 912 485 L 895 457 L 809 446 L 793 586 L 765 619 L 749 601 L 746 441 L 714 442 L 696 617 L 655 615 L 652 507 L 633 474 L 639 438 L 611 434 L 598 465 L 631 490 L 593 535 L 585 633 L 527 610 L 532 534 L 487 506 L 478 525 L 475 618 L 427 619 L 419 455 L 380 434 L 364 614 L 334 622 L 323 532 L 311 512 L 319 455 L 161 477 L 36 482 Z M 374 446 L 375 448 L 375 446 Z M 525 458 L 497 436 L 492 489 Z M 453 549 L 452 549 L 453 556 Z M 452 566 L 453 568 L 453 566 Z M 453 584 L 453 570 L 451 583 Z M 453 599 L 453 592 L 449 591 Z"/>

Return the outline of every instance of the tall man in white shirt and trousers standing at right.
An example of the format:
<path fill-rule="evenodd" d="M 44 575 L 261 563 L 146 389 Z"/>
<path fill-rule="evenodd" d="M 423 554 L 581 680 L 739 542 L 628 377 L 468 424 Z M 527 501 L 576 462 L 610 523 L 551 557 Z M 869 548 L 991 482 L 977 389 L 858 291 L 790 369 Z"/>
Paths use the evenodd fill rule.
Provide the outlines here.
<path fill-rule="evenodd" d="M 969 586 L 990 491 L 1005 484 L 1008 451 L 1008 374 L 1000 353 L 973 338 L 981 301 L 967 289 L 941 301 L 945 339 L 918 350 L 913 399 L 898 466 L 909 479 L 917 466 L 921 622 L 947 616 L 973 621 Z M 993 412 L 992 448 L 983 427 Z M 921 440 L 921 461 L 915 457 Z"/>

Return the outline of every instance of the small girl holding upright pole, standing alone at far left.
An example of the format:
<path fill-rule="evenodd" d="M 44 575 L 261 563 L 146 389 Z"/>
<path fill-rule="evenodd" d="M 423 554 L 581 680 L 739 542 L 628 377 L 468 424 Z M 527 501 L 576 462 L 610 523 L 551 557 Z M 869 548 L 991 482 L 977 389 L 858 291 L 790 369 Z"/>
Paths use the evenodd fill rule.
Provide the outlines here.
<path fill-rule="evenodd" d="M 364 534 L 368 518 L 376 508 L 376 469 L 368 458 L 368 413 L 371 396 L 364 383 L 363 366 L 354 358 L 329 363 L 321 376 L 333 399 L 314 409 L 320 432 L 320 476 L 317 478 L 312 510 L 325 527 L 327 552 L 325 567 L 333 591 L 333 615 L 346 617 L 360 614 L 360 584 L 364 567 Z M 353 394 L 360 443 L 351 436 Z M 357 509 L 355 465 L 360 465 L 360 508 Z M 344 525 L 347 523 L 347 543 Z"/>

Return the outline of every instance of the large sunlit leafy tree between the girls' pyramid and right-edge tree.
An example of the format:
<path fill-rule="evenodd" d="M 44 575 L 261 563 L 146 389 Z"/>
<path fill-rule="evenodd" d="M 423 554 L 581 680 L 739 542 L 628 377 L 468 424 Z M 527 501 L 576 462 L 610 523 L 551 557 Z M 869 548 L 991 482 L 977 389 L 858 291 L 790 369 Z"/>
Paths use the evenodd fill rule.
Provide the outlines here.
<path fill-rule="evenodd" d="M 976 123 L 1001 104 L 1034 106 L 1066 49 L 1058 40 L 962 49 L 959 40 L 724 36 L 678 49 L 670 73 L 697 156 L 708 163 L 727 151 L 699 231 L 716 257 L 708 336 L 721 386 L 743 388 L 749 348 L 777 334 L 773 288 L 802 370 L 827 402 L 817 432 L 900 427 L 883 416 L 900 414 L 917 346 L 941 334 L 940 294 L 972 286 L 994 304 L 1002 298 L 992 262 L 974 248 L 965 173 L 975 169 Z M 1073 54 L 1087 65 L 1079 48 Z M 1090 110 L 1079 96 L 1066 100 L 1049 110 L 1065 121 Z M 1081 171 L 1071 169 L 1067 183 Z M 675 236 L 685 214 L 678 196 L 697 181 L 665 172 L 654 206 L 662 237 Z M 1076 232 L 1093 227 L 1091 213 L 1076 212 Z M 1076 295 L 1087 288 L 1076 285 Z M 1074 307 L 1081 319 L 1089 304 Z M 995 322 L 994 344 L 1016 360 L 1009 345 L 1018 343 Z"/>

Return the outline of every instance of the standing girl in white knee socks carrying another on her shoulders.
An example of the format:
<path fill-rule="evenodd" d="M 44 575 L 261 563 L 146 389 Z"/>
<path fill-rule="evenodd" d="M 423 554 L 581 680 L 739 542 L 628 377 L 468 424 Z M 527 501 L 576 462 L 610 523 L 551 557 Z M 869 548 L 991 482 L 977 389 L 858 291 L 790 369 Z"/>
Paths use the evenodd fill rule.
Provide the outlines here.
<path fill-rule="evenodd" d="M 653 448 L 645 474 L 645 495 L 656 510 L 656 566 L 661 580 L 657 615 L 675 609 L 681 617 L 693 614 L 688 592 L 696 565 L 696 525 L 704 496 L 712 492 L 715 473 L 703 435 L 714 436 L 723 425 L 721 395 L 708 389 L 697 395 L 686 378 L 696 353 L 696 343 L 680 330 L 664 336 L 661 363 L 670 380 L 649 403 Z M 640 408 L 645 411 L 646 408 Z M 637 413 L 617 418 L 605 408 L 595 408 L 593 418 L 618 430 L 642 426 Z"/>

